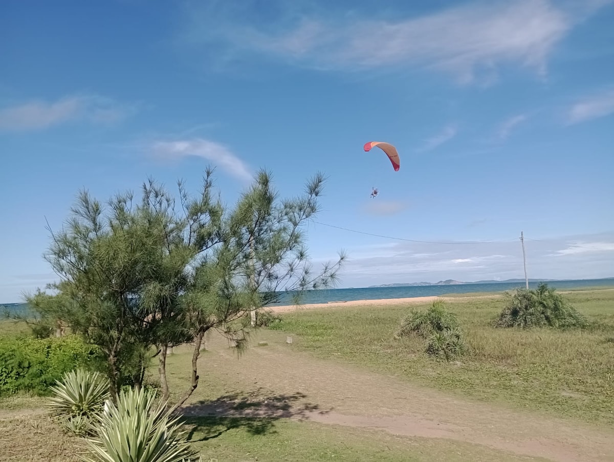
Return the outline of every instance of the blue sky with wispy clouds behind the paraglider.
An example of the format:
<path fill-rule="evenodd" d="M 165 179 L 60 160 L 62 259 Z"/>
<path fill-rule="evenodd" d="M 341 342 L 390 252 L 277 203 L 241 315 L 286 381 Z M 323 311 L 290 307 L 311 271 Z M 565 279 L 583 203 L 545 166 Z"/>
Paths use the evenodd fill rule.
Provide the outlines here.
<path fill-rule="evenodd" d="M 521 231 L 529 277 L 614 276 L 614 2 L 413 3 L 2 2 L 0 301 L 55 279 L 80 188 L 209 163 L 229 203 L 327 174 L 308 245 L 347 251 L 340 287 L 523 277 Z"/>

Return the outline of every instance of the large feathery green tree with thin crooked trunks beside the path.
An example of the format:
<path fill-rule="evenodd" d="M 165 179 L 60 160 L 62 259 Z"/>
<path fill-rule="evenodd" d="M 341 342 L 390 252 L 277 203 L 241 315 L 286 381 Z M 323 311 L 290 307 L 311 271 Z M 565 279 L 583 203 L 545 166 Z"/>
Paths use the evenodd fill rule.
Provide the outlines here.
<path fill-rule="evenodd" d="M 168 398 L 161 351 L 192 343 L 198 359 L 211 329 L 243 347 L 249 323 L 238 321 L 246 310 L 271 303 L 280 291 L 336 281 L 343 254 L 314 271 L 303 231 L 319 209 L 322 174 L 300 197 L 280 199 L 270 174 L 260 171 L 230 207 L 214 191 L 212 174 L 209 168 L 195 197 L 179 182 L 177 200 L 151 179 L 140 200 L 126 192 L 103 203 L 83 190 L 66 227 L 52 232 L 45 259 L 61 276 L 49 286 L 57 294 L 38 291 L 28 303 L 41 320 L 98 345 L 111 399 L 123 385 L 141 387 L 153 357 Z M 190 373 L 183 401 L 198 385 L 198 374 Z"/>

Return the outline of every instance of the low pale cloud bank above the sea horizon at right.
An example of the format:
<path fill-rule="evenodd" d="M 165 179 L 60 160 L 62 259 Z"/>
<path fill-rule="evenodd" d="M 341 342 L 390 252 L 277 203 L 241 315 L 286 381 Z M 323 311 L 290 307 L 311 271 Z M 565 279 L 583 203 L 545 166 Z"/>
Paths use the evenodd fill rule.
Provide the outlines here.
<path fill-rule="evenodd" d="M 333 238 L 343 238 L 343 232 Z M 379 248 L 344 246 L 350 259 L 340 272 L 341 286 L 506 280 L 524 278 L 523 249 L 509 241 L 466 243 L 394 242 Z M 437 240 L 437 239 L 433 239 Z M 444 240 L 446 241 L 446 240 Z M 525 242 L 529 278 L 588 279 L 614 276 L 614 232 Z M 322 260 L 329 260 L 322 258 Z"/>

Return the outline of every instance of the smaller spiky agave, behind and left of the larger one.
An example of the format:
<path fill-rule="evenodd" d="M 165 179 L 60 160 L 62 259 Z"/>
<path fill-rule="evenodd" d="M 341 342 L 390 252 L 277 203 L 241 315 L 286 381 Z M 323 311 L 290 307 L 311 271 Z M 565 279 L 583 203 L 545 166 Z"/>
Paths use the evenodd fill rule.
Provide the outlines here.
<path fill-rule="evenodd" d="M 91 421 L 109 399 L 109 379 L 99 372 L 71 370 L 51 387 L 49 413 L 74 434 L 91 433 Z"/>

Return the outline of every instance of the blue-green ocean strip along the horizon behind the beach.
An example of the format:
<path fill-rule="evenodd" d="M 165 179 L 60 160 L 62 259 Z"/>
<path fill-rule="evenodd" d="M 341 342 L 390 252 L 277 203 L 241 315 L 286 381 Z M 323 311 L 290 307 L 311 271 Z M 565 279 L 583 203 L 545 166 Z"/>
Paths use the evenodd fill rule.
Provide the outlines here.
<path fill-rule="evenodd" d="M 583 279 L 569 281 L 546 281 L 548 286 L 565 290 L 586 287 L 614 287 L 614 278 L 607 279 Z M 529 288 L 537 288 L 539 282 L 529 281 Z M 304 305 L 313 303 L 328 303 L 351 300 L 383 300 L 405 299 L 410 297 L 443 296 L 446 294 L 470 294 L 473 292 L 503 292 L 517 288 L 524 288 L 524 282 L 502 283 L 470 283 L 451 284 L 439 286 L 396 286 L 396 287 L 365 287 L 351 289 L 321 289 L 306 291 L 301 299 Z M 289 294 L 282 294 L 279 305 L 291 305 L 292 298 Z M 1 306 L 1 305 L 0 305 Z M 24 313 L 28 310 L 26 303 L 7 303 L 4 307 L 12 313 Z M 2 316 L 0 311 L 0 316 Z"/>

